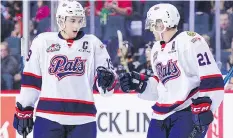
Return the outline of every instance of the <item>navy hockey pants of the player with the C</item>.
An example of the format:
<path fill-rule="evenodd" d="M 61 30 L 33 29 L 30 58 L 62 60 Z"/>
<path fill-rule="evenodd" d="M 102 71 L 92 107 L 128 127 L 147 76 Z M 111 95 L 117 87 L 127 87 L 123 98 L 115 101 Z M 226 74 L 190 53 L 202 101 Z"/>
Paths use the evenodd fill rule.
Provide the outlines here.
<path fill-rule="evenodd" d="M 83 125 L 61 125 L 36 117 L 33 138 L 96 138 L 96 122 Z"/>

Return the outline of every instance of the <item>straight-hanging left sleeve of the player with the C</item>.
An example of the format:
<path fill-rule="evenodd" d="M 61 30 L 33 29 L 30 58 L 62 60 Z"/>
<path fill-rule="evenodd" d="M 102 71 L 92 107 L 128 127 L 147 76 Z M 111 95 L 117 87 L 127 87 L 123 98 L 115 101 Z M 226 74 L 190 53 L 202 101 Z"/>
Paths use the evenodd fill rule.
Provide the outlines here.
<path fill-rule="evenodd" d="M 42 74 L 40 68 L 40 51 L 43 42 L 37 36 L 30 47 L 28 57 L 25 61 L 25 67 L 22 74 L 21 90 L 17 97 L 17 102 L 23 107 L 34 107 L 37 101 L 42 85 Z"/>

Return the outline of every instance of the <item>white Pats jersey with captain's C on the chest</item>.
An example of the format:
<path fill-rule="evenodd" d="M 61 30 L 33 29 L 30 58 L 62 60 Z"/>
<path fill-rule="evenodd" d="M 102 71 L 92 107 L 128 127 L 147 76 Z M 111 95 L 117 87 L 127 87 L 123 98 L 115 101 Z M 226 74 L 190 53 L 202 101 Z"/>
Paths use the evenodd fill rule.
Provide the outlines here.
<path fill-rule="evenodd" d="M 60 124 L 92 122 L 97 112 L 93 84 L 98 66 L 113 71 L 105 46 L 94 35 L 80 31 L 76 39 L 65 40 L 57 32 L 42 33 L 32 42 L 17 102 L 34 107 L 39 98 L 36 116 Z M 98 84 L 97 88 L 102 95 L 114 91 L 104 93 Z"/>

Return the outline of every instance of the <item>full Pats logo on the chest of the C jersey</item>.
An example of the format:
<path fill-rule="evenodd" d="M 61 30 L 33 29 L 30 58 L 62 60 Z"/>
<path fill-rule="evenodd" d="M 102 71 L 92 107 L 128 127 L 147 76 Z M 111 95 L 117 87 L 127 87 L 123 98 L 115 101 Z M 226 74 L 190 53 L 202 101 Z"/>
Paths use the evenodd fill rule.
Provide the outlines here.
<path fill-rule="evenodd" d="M 82 76 L 85 73 L 85 62 L 81 57 L 68 60 L 65 55 L 56 55 L 50 61 L 48 72 L 55 75 L 59 81 L 66 76 Z"/>

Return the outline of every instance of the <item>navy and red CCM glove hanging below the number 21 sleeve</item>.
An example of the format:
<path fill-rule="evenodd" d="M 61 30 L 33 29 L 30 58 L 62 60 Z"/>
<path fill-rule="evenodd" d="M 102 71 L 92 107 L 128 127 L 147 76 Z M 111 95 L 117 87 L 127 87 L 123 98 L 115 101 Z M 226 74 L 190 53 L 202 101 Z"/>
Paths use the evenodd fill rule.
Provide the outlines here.
<path fill-rule="evenodd" d="M 192 102 L 193 122 L 199 126 L 200 131 L 204 131 L 202 128 L 208 126 L 214 119 L 210 110 L 212 100 L 209 97 L 198 97 L 197 99 L 192 99 Z"/>

